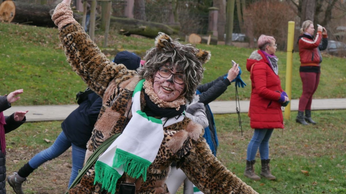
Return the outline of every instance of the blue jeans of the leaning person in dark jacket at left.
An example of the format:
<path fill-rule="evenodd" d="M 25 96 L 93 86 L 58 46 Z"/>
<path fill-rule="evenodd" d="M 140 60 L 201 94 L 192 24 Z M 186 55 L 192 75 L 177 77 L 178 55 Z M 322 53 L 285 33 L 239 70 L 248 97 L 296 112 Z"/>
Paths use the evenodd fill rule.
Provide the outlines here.
<path fill-rule="evenodd" d="M 65 136 L 64 132 L 61 132 L 58 135 L 58 137 L 55 139 L 54 144 L 51 147 L 45 149 L 44 151 L 41 151 L 40 153 L 36 154 L 33 158 L 31 158 L 29 161 L 29 165 L 31 166 L 31 168 L 36 169 L 41 164 L 60 156 L 67 149 L 69 149 L 71 145 L 72 145 L 72 171 L 71 171 L 71 176 L 69 181 L 69 187 L 70 187 L 74 179 L 78 175 L 78 170 L 83 168 L 86 149 L 83 149 L 71 143 Z"/>

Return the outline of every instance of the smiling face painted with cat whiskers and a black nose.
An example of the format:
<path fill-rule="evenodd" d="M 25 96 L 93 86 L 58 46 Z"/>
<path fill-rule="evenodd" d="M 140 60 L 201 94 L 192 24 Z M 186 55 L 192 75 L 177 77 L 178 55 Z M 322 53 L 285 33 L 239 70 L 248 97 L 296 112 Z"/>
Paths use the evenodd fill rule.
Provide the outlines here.
<path fill-rule="evenodd" d="M 170 75 L 167 78 L 164 78 L 160 75 L 160 70 L 154 74 L 154 93 L 161 99 L 166 102 L 171 102 L 175 100 L 180 94 L 184 91 L 185 83 L 177 84 L 174 81 L 175 76 L 184 75 L 182 71 L 176 71 L 176 68 L 169 69 L 166 66 L 163 66 L 166 70 L 170 71 L 175 75 Z M 166 77 L 166 76 L 165 76 Z"/>

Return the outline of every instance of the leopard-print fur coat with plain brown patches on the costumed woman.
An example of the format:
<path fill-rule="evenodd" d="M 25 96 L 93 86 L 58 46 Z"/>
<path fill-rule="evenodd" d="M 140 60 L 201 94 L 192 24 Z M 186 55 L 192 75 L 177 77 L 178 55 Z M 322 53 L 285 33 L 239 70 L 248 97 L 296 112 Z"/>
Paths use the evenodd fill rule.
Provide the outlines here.
<path fill-rule="evenodd" d="M 125 122 L 126 116 L 131 118 L 131 96 L 140 78 L 135 71 L 107 59 L 79 23 L 70 23 L 62 28 L 60 41 L 72 69 L 89 88 L 103 98 L 98 121 L 87 144 L 85 157 L 88 158 L 105 140 L 122 132 L 129 120 Z M 144 94 L 141 94 L 141 103 L 143 109 Z M 211 153 L 202 137 L 201 125 L 185 117 L 182 122 L 164 127 L 163 130 L 164 139 L 155 161 L 148 168 L 147 180 L 144 182 L 139 178 L 135 181 L 124 173 L 117 184 L 132 181 L 136 184 L 138 194 L 167 194 L 169 191 L 165 180 L 171 163 L 176 162 L 177 167 L 180 167 L 203 193 L 257 193 L 227 170 Z M 99 183 L 93 184 L 94 176 L 94 167 L 91 167 L 83 175 L 81 182 L 68 192 L 104 193 Z"/>

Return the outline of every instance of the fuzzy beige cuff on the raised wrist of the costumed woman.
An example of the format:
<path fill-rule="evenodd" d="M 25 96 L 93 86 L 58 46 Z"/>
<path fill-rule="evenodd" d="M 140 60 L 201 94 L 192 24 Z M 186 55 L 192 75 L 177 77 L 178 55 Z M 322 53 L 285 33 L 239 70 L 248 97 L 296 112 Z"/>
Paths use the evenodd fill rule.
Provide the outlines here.
<path fill-rule="evenodd" d="M 66 3 L 59 3 L 56 6 L 52 15 L 52 20 L 60 31 L 64 26 L 76 22 L 73 18 L 73 11 L 70 5 Z"/>

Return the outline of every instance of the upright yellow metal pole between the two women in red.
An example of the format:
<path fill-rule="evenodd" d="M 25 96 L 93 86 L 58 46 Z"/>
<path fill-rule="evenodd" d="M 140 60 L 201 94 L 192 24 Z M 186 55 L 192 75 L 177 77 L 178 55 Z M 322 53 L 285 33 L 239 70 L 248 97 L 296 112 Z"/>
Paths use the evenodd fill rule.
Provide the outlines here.
<path fill-rule="evenodd" d="M 294 41 L 294 21 L 288 22 L 287 36 L 287 59 L 286 59 L 286 87 L 285 91 L 288 97 L 292 97 L 292 60 L 293 60 L 293 41 Z M 290 119 L 291 103 L 285 107 L 285 119 Z"/>

